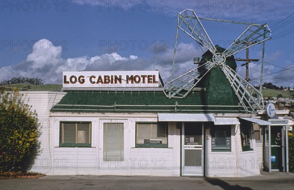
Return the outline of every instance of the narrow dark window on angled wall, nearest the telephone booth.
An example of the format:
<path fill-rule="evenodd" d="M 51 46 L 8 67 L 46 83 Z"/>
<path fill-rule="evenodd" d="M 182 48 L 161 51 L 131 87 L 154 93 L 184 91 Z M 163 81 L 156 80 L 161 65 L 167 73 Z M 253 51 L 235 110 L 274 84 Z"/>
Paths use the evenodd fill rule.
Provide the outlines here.
<path fill-rule="evenodd" d="M 240 120 L 240 135 L 242 151 L 253 150 L 251 142 L 252 123 Z"/>

